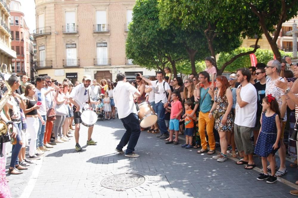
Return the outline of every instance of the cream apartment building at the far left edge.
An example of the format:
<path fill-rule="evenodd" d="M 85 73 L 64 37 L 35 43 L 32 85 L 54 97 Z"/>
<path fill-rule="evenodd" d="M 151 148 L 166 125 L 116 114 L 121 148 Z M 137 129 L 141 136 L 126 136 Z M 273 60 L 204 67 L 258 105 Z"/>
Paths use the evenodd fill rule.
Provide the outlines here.
<path fill-rule="evenodd" d="M 2 72 L 11 73 L 11 60 L 16 58 L 16 53 L 11 49 L 10 35 L 10 0 L 0 0 L 0 69 Z"/>

